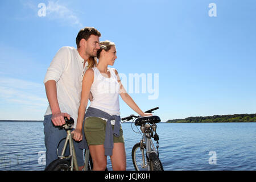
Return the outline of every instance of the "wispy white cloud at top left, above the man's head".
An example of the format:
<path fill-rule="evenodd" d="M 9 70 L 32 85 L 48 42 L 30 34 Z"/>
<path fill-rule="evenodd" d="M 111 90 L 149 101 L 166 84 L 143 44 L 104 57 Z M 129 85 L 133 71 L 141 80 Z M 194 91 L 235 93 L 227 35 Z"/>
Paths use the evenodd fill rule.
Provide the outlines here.
<path fill-rule="evenodd" d="M 40 7 L 33 1 L 22 2 L 23 6 L 35 11 L 36 16 L 38 16 L 38 11 Z M 57 20 L 61 24 L 66 26 L 79 26 L 82 27 L 79 17 L 75 14 L 73 10 L 67 6 L 60 4 L 59 1 L 48 1 L 46 5 L 46 16 L 43 18 L 48 18 L 50 20 Z"/>

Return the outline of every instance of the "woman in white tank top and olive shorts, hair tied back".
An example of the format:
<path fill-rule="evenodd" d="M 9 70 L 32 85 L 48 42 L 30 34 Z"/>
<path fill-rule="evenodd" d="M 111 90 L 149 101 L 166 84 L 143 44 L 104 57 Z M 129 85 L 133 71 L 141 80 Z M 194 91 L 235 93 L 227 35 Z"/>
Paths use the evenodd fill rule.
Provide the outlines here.
<path fill-rule="evenodd" d="M 113 170 L 126 170 L 125 144 L 120 126 L 119 97 L 142 116 L 143 113 L 123 88 L 118 72 L 108 65 L 117 59 L 115 44 L 108 40 L 100 43 L 97 52 L 97 67 L 89 68 L 82 81 L 81 103 L 74 133 L 75 140 L 82 139 L 82 121 L 85 117 L 84 132 L 93 160 L 93 170 L 105 170 L 107 156 L 110 155 Z M 85 113 L 88 98 L 93 100 Z"/>

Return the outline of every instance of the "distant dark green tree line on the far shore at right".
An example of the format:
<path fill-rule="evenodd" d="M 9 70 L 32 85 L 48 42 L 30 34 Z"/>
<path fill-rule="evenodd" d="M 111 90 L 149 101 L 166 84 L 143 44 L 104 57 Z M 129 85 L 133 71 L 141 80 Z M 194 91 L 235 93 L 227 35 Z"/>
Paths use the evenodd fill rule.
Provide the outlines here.
<path fill-rule="evenodd" d="M 188 117 L 169 119 L 168 123 L 218 123 L 218 122 L 256 122 L 256 114 L 213 115 L 205 117 Z"/>

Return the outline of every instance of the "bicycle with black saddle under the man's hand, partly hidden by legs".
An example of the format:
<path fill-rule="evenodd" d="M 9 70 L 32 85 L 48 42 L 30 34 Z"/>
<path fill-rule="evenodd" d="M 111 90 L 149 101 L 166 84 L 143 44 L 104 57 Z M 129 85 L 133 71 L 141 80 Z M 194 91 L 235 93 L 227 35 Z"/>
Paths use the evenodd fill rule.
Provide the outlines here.
<path fill-rule="evenodd" d="M 73 129 L 74 119 L 68 119 L 64 117 L 65 124 L 60 127 L 60 129 L 65 129 L 67 131 L 67 137 L 60 140 L 57 146 L 57 155 L 58 159 L 53 160 L 47 167 L 46 171 L 79 171 L 79 167 L 77 164 L 76 151 L 73 144 L 71 130 Z M 65 139 L 63 150 L 61 151 L 61 155 L 59 155 L 59 145 Z M 65 156 L 65 151 L 67 150 L 67 146 L 69 143 L 69 152 L 70 155 Z M 90 156 L 90 151 L 85 150 L 85 163 L 84 163 L 84 171 L 91 171 L 93 168 L 92 157 Z"/>

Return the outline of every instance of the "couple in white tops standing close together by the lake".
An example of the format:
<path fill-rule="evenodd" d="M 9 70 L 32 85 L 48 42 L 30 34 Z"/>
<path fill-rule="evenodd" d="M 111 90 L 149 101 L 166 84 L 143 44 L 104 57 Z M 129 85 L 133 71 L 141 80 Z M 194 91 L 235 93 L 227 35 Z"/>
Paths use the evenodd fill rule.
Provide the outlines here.
<path fill-rule="evenodd" d="M 139 115 L 152 115 L 139 109 L 123 88 L 117 70 L 108 68 L 114 65 L 117 51 L 114 43 L 100 42 L 100 36 L 93 27 L 83 28 L 76 37 L 77 49 L 62 47 L 47 69 L 44 78 L 49 101 L 44 115 L 46 166 L 57 159 L 57 144 L 67 135 L 59 126 L 65 123 L 64 117 L 72 117 L 79 169 L 84 165 L 83 148 L 89 146 L 93 170 L 105 170 L 108 155 L 113 170 L 125 170 L 118 95 Z M 88 100 L 90 105 L 86 110 Z"/>

